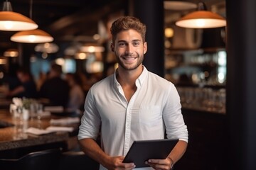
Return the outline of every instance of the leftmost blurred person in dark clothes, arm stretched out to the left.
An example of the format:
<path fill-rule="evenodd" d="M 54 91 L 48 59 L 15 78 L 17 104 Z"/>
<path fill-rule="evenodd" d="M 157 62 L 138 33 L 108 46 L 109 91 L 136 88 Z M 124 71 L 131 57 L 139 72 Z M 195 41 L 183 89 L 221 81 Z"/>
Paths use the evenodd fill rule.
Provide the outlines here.
<path fill-rule="evenodd" d="M 36 90 L 36 82 L 33 80 L 31 72 L 28 69 L 20 68 L 16 71 L 18 80 L 21 81 L 19 86 L 7 91 L 6 97 L 26 97 L 37 98 L 38 91 Z"/>

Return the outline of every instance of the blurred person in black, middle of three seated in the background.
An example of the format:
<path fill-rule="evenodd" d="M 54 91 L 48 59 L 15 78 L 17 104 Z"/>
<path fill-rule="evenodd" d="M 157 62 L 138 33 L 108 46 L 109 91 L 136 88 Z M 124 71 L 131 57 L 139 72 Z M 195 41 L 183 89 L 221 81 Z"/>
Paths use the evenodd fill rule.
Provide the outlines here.
<path fill-rule="evenodd" d="M 47 98 L 50 106 L 63 106 L 63 108 L 67 108 L 70 87 L 68 82 L 62 79 L 62 73 L 60 65 L 55 63 L 51 65 L 48 79 L 42 84 L 39 97 Z"/>

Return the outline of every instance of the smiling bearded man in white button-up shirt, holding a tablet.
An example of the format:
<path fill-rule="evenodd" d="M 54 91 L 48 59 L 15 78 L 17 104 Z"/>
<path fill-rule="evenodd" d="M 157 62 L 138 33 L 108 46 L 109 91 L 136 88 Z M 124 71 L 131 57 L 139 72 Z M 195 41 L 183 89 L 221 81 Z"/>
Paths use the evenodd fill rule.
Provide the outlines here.
<path fill-rule="evenodd" d="M 78 139 L 100 169 L 134 169 L 122 163 L 134 140 L 178 138 L 166 159 L 149 159 L 148 168 L 171 169 L 186 151 L 188 131 L 174 84 L 142 65 L 147 50 L 146 26 L 134 17 L 112 23 L 111 49 L 119 64 L 114 74 L 97 82 L 85 99 Z M 101 147 L 95 142 L 100 132 Z"/>

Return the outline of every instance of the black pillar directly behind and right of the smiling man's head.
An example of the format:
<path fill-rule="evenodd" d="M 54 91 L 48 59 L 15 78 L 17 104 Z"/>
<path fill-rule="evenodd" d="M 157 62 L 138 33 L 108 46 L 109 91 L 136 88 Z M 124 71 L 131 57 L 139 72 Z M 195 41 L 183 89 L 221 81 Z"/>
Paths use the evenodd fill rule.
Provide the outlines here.
<path fill-rule="evenodd" d="M 164 1 L 130 1 L 129 15 L 146 24 L 148 50 L 143 64 L 146 69 L 164 77 Z"/>

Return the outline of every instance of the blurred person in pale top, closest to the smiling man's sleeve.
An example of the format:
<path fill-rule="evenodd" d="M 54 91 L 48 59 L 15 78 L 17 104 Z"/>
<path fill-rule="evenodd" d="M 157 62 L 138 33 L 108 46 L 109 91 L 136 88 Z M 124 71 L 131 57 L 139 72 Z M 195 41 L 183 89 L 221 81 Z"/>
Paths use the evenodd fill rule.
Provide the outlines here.
<path fill-rule="evenodd" d="M 82 89 L 82 79 L 80 75 L 68 73 L 65 75 L 65 78 L 70 86 L 68 110 L 82 110 L 83 103 L 85 102 L 85 92 Z"/>

